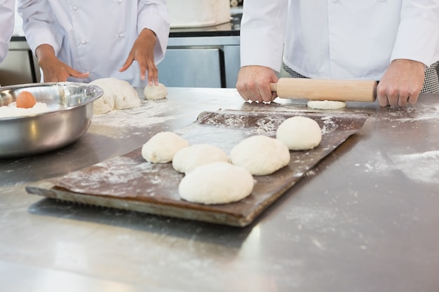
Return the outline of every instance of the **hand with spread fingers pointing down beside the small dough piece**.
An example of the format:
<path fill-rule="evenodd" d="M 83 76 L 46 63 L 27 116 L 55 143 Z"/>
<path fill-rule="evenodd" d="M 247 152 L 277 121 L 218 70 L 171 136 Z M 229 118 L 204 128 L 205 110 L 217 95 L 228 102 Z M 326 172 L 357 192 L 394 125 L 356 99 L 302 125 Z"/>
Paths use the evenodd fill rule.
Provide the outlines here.
<path fill-rule="evenodd" d="M 140 78 L 145 80 L 145 72 L 148 71 L 148 84 L 158 85 L 158 70 L 154 62 L 154 46 L 156 46 L 156 34 L 150 29 L 142 29 L 139 36 L 131 48 L 130 54 L 125 64 L 119 69 L 120 72 L 126 71 L 136 60 L 140 66 Z"/>

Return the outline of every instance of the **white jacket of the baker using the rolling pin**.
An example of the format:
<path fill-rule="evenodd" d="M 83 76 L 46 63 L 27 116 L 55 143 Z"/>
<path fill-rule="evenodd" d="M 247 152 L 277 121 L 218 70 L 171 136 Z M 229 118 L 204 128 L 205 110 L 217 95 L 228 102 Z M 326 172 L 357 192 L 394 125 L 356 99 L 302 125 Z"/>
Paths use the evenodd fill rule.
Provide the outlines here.
<path fill-rule="evenodd" d="M 241 66 L 379 80 L 392 60 L 439 60 L 439 0 L 250 0 Z"/>

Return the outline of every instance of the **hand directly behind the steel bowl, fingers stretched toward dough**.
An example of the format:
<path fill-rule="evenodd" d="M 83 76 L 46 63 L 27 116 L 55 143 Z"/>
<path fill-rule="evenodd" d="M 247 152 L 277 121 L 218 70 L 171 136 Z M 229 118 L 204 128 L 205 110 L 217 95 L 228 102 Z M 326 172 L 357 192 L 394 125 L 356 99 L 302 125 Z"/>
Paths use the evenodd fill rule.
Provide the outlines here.
<path fill-rule="evenodd" d="M 55 56 L 55 50 L 48 44 L 36 48 L 35 55 L 38 58 L 39 67 L 43 70 L 43 82 L 65 82 L 71 76 L 81 79 L 90 75 L 76 71 L 58 60 Z"/>

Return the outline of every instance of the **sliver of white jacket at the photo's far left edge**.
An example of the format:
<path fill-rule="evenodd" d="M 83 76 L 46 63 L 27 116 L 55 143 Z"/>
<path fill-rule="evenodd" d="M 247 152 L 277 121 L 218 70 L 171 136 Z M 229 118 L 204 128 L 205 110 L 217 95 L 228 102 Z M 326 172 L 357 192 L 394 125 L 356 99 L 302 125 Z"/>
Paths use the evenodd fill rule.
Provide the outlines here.
<path fill-rule="evenodd" d="M 0 62 L 8 54 L 9 41 L 14 30 L 15 1 L 0 0 Z"/>

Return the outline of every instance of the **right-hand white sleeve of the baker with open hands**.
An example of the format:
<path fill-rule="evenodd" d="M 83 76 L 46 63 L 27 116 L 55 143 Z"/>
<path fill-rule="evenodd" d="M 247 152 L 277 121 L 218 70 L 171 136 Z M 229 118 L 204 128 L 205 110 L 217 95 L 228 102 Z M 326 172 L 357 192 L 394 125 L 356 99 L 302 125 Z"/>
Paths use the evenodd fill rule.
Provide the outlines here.
<path fill-rule="evenodd" d="M 170 22 L 165 0 L 139 1 L 137 31 L 151 29 L 156 34 L 157 43 L 154 48 L 156 64 L 163 60 L 168 46 Z"/>

